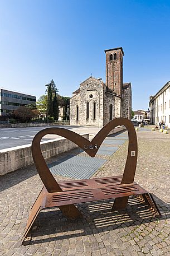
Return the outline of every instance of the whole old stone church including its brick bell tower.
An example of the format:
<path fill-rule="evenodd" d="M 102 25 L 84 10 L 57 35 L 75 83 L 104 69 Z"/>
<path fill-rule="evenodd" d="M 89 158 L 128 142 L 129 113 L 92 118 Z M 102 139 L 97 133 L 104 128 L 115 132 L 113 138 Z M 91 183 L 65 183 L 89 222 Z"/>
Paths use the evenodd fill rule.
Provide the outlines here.
<path fill-rule="evenodd" d="M 80 83 L 70 99 L 70 124 L 103 127 L 110 120 L 125 117 L 131 120 L 131 83 L 123 83 L 122 47 L 105 50 L 106 83 L 89 77 Z"/>

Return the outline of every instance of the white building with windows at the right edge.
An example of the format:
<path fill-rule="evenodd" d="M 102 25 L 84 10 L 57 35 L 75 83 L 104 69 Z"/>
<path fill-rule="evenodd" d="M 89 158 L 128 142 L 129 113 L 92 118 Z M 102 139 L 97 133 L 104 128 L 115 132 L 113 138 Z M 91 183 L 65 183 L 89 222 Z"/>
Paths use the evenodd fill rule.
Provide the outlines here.
<path fill-rule="evenodd" d="M 156 95 L 150 96 L 150 122 L 158 125 L 162 120 L 170 128 L 170 81 Z"/>

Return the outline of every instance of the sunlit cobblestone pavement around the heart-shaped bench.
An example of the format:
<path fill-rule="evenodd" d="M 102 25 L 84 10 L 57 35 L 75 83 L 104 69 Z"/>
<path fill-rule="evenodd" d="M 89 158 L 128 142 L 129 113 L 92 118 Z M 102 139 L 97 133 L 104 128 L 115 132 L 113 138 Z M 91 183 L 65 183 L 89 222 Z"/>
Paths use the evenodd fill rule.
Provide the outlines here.
<path fill-rule="evenodd" d="M 79 204 L 84 217 L 74 221 L 54 208 L 40 213 L 31 244 L 22 246 L 28 213 L 42 188 L 31 165 L 0 178 L 0 255 L 170 255 L 170 134 L 140 128 L 137 135 L 135 181 L 153 193 L 161 218 L 139 204 L 138 198 L 130 198 L 127 210 L 119 212 L 110 211 L 112 200 Z M 127 148 L 125 142 L 94 176 L 122 174 Z"/>

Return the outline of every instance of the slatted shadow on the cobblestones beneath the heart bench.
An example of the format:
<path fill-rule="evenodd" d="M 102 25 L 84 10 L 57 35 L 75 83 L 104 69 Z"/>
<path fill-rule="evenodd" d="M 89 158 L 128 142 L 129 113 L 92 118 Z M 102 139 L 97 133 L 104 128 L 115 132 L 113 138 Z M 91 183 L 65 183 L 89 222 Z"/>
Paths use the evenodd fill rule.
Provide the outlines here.
<path fill-rule="evenodd" d="M 153 221 L 159 223 L 160 220 L 170 218 L 170 203 L 165 203 L 156 196 L 154 199 L 161 211 L 160 218 L 154 215 L 147 204 L 141 203 L 139 197 L 132 196 L 125 211 L 111 212 L 111 199 L 78 204 L 83 218 L 77 220 L 67 220 L 57 208 L 42 211 L 33 225 L 30 245 L 139 226 Z"/>

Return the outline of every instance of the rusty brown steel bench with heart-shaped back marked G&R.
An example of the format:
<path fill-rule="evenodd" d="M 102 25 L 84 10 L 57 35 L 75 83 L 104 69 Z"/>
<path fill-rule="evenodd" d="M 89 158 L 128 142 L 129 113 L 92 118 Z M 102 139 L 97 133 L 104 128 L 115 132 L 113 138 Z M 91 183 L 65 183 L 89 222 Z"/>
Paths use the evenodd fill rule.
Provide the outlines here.
<path fill-rule="evenodd" d="M 67 180 L 57 183 L 41 153 L 40 141 L 43 136 L 57 134 L 65 137 L 82 148 L 89 156 L 94 157 L 105 137 L 118 125 L 124 125 L 129 136 L 128 156 L 122 176 Z M 82 215 L 74 204 L 115 199 L 112 210 L 123 210 L 127 206 L 129 196 L 140 196 L 142 201 L 150 206 L 150 210 L 157 217 L 160 217 L 161 213 L 152 194 L 140 187 L 139 184 L 134 183 L 137 155 L 137 135 L 132 122 L 126 118 L 111 120 L 96 134 L 92 141 L 64 128 L 47 128 L 38 132 L 32 141 L 32 157 L 44 186 L 31 208 L 22 244 L 30 243 L 30 229 L 33 222 L 42 209 L 49 207 L 59 207 L 67 218 L 77 218 L 82 217 Z"/>

